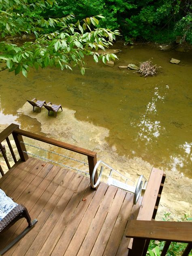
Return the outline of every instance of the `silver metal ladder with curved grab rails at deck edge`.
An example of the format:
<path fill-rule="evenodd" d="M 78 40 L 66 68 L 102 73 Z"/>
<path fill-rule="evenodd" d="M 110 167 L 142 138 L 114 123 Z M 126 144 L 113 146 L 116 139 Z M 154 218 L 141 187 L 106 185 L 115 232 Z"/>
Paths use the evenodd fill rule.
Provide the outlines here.
<path fill-rule="evenodd" d="M 139 177 L 139 180 L 137 182 L 137 186 L 134 187 L 134 186 L 128 186 L 126 183 L 127 181 L 130 181 L 132 184 L 134 184 L 133 181 L 131 181 L 130 179 L 128 179 L 126 176 L 122 175 L 121 173 L 119 173 L 118 171 L 116 171 L 115 169 L 113 169 L 109 164 L 106 164 L 105 162 L 103 162 L 102 160 L 99 160 L 95 167 L 94 167 L 94 170 L 93 170 L 93 173 L 92 173 L 92 177 L 91 177 L 91 186 L 92 188 L 96 188 L 98 186 L 98 184 L 100 183 L 100 179 L 101 179 L 101 176 L 102 176 L 102 172 L 103 172 L 103 166 L 101 166 L 101 169 L 100 169 L 100 173 L 99 173 L 99 177 L 97 179 L 97 182 L 94 184 L 94 177 L 95 177 L 95 173 L 97 171 L 97 168 L 99 166 L 99 164 L 102 163 L 103 165 L 107 166 L 109 169 L 111 169 L 110 171 L 110 174 L 109 174 L 109 179 L 111 178 L 111 175 L 112 175 L 112 172 L 114 171 L 115 173 L 117 173 L 118 175 L 120 175 L 121 177 L 123 177 L 124 179 L 126 179 L 126 182 L 125 184 L 118 181 L 119 183 L 122 183 L 124 184 L 124 186 L 127 186 L 128 188 L 125 188 L 125 187 L 122 187 L 123 189 L 125 190 L 128 190 L 129 192 L 133 192 L 134 193 L 134 198 L 133 198 L 133 204 L 136 205 L 138 199 L 139 199 L 139 196 L 141 194 L 141 191 L 142 189 L 145 190 L 146 189 L 146 186 L 147 186 L 147 179 L 141 175 Z M 143 183 L 144 181 L 144 183 Z M 109 183 L 108 183 L 109 184 Z M 110 185 L 110 184 L 109 184 Z M 114 184 L 112 184 L 113 186 L 115 186 Z M 116 185 L 117 186 L 117 185 Z M 131 188 L 131 189 L 130 189 Z"/>

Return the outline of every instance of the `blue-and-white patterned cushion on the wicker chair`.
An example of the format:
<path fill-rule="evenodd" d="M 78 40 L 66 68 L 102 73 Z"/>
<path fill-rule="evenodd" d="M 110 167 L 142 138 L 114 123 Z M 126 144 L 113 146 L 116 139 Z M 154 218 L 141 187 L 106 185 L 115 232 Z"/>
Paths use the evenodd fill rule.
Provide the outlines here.
<path fill-rule="evenodd" d="M 18 204 L 0 189 L 0 221 Z"/>

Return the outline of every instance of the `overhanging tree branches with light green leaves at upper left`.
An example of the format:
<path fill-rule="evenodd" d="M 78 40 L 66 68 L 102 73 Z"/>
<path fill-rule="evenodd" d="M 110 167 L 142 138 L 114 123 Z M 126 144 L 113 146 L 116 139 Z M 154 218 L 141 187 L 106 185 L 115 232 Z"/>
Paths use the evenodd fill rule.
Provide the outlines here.
<path fill-rule="evenodd" d="M 55 66 L 71 70 L 78 65 L 84 74 L 84 55 L 92 55 L 95 62 L 102 60 L 104 63 L 117 58 L 114 54 L 96 52 L 112 45 L 115 34 L 119 34 L 117 30 L 95 28 L 98 19 L 103 18 L 101 15 L 81 21 L 75 21 L 71 14 L 61 18 L 41 16 L 41 10 L 50 9 L 52 4 L 57 6 L 53 0 L 0 0 L 1 70 L 15 71 L 15 75 L 22 72 L 26 77 L 30 67 Z M 22 34 L 34 34 L 36 39 L 17 44 L 6 41 L 7 35 Z"/>

